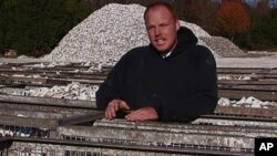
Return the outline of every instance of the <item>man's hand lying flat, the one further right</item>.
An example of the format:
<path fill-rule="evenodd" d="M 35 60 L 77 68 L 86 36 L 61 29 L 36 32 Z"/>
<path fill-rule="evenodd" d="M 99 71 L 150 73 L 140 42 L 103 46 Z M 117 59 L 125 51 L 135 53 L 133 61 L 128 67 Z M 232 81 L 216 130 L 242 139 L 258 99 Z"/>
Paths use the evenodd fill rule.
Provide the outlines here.
<path fill-rule="evenodd" d="M 148 119 L 157 119 L 158 114 L 154 107 L 142 107 L 136 111 L 131 112 L 125 116 L 127 121 L 148 121 Z"/>

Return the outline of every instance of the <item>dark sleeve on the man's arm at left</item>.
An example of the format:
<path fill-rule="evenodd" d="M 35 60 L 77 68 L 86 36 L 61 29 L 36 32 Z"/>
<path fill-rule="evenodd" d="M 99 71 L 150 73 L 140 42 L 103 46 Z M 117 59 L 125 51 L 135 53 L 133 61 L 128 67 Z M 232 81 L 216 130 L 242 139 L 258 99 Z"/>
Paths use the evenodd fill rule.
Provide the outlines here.
<path fill-rule="evenodd" d="M 107 74 L 106 80 L 99 87 L 96 92 L 96 106 L 104 111 L 110 101 L 121 98 L 123 94 L 124 73 L 126 69 L 126 56 L 114 65 L 112 71 Z"/>

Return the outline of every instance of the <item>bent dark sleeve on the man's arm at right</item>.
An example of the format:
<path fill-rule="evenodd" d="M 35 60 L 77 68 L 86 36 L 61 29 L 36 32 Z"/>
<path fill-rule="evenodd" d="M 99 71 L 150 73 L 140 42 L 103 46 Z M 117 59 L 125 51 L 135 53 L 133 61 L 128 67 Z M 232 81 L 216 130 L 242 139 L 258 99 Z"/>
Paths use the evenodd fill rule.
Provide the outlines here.
<path fill-rule="evenodd" d="M 206 48 L 197 49 L 202 54 L 195 60 L 194 89 L 189 96 L 177 100 L 154 100 L 161 121 L 191 122 L 199 115 L 212 114 L 217 105 L 216 62 Z"/>

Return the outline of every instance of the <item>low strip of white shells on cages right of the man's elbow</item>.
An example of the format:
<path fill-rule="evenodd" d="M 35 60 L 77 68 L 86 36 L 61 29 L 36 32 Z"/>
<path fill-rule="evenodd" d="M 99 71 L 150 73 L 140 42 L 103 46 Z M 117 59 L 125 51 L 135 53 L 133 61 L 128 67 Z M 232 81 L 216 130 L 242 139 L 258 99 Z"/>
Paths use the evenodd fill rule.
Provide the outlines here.
<path fill-rule="evenodd" d="M 243 96 L 239 101 L 230 101 L 229 98 L 220 97 L 217 104 L 220 106 L 235 106 L 235 107 L 256 107 L 256 108 L 277 107 L 277 103 L 275 102 L 268 102 L 268 101 L 263 102 L 253 96 L 249 97 Z"/>

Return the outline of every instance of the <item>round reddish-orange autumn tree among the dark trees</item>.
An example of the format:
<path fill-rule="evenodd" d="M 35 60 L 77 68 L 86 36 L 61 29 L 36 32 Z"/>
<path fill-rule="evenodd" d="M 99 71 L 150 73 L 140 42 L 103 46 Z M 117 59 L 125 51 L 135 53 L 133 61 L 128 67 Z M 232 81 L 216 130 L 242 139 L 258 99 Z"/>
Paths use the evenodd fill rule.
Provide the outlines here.
<path fill-rule="evenodd" d="M 225 0 L 217 12 L 219 30 L 232 41 L 249 30 L 250 18 L 242 0 Z"/>

